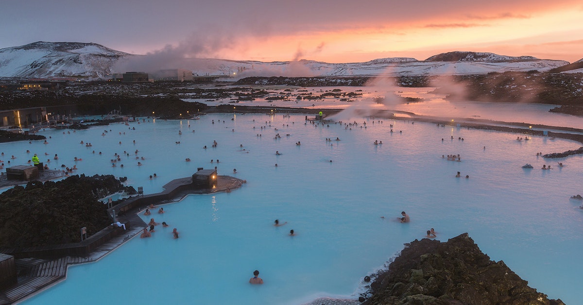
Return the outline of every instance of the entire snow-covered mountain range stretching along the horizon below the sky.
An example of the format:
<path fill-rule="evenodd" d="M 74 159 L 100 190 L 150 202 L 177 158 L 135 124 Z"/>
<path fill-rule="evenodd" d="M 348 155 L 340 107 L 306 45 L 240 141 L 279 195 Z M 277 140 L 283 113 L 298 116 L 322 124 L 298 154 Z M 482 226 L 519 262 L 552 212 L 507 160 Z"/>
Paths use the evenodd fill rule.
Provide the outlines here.
<path fill-rule="evenodd" d="M 82 76 L 106 78 L 114 67 L 132 66 L 132 71 L 147 71 L 148 55 L 132 55 L 94 43 L 47 43 L 39 41 L 0 49 L 0 77 L 50 78 Z M 156 64 L 164 64 L 159 56 Z M 132 63 L 132 61 L 134 61 Z M 232 61 L 227 59 L 168 58 L 168 65 L 190 69 L 195 75 L 247 76 L 415 76 L 463 75 L 505 71 L 548 71 L 569 64 L 567 61 L 538 59 L 531 56 L 510 57 L 485 52 L 447 52 L 424 61 L 415 58 L 380 58 L 367 62 L 332 64 L 321 61 Z M 125 64 L 122 64 L 125 63 Z M 117 65 L 119 64 L 119 65 Z M 132 65 L 133 64 L 133 65 Z M 142 68 L 143 67 L 143 68 Z M 117 68 L 121 69 L 121 68 Z"/>

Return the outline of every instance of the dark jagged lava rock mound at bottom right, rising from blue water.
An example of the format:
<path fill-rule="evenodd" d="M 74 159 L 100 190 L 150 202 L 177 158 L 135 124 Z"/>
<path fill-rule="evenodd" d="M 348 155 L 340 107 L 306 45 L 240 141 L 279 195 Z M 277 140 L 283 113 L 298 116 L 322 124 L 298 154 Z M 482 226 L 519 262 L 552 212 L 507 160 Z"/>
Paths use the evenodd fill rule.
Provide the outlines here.
<path fill-rule="evenodd" d="M 483 254 L 468 233 L 408 244 L 371 284 L 365 304 L 564 304 L 530 288 L 503 261 Z"/>

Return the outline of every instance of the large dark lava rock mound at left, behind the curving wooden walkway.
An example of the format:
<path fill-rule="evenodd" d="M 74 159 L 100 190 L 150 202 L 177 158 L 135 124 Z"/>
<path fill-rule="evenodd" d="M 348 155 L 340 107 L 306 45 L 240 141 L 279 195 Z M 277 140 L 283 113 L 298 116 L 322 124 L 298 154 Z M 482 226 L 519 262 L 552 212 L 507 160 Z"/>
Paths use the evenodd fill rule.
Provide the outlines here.
<path fill-rule="evenodd" d="M 111 223 L 107 206 L 98 199 L 124 189 L 113 175 L 16 185 L 0 194 L 0 247 L 76 243 L 81 227 L 91 236 Z"/>

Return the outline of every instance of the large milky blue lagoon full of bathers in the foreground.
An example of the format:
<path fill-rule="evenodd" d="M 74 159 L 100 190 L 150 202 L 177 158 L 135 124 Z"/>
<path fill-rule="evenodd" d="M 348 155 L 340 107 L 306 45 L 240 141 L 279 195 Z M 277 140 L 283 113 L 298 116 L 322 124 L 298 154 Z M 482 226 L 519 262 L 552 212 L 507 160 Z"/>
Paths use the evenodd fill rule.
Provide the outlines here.
<path fill-rule="evenodd" d="M 190 176 L 196 167 L 217 166 L 219 174 L 248 181 L 231 193 L 191 195 L 164 206 L 163 215 L 142 216 L 170 227 L 158 226 L 152 238 L 134 238 L 99 262 L 70 267 L 66 281 L 26 303 L 300 304 L 317 296 L 356 298 L 363 276 L 431 227 L 443 241 L 468 232 L 492 260 L 504 260 L 549 297 L 569 304 L 583 299 L 583 210 L 569 199 L 583 193 L 582 157 L 536 156 L 580 143 L 516 141 L 515 134 L 419 122 L 351 121 L 359 125 L 314 126 L 305 124 L 304 115 L 213 114 L 70 134 L 47 130 L 46 145 L 0 144 L 4 162 L 15 155 L 12 161 L 23 164 L 38 153 L 41 160 L 51 158 L 51 168 L 76 164 L 77 173 L 127 176 L 146 193 Z M 281 138 L 274 139 L 278 133 Z M 336 137 L 340 141 L 325 140 Z M 375 140 L 382 145 L 373 145 Z M 136 149 L 145 160 L 135 159 Z M 124 150 L 129 157 L 111 167 L 114 153 Z M 461 162 L 441 158 L 449 154 L 461 155 Z M 83 160 L 75 163 L 75 156 Z M 185 162 L 187 157 L 192 161 Z M 525 163 L 535 168 L 522 169 Z M 543 164 L 553 169 L 541 170 Z M 470 178 L 455 178 L 457 171 Z M 153 173 L 158 177 L 150 180 Z M 396 221 L 401 211 L 410 223 Z M 274 227 L 275 219 L 287 224 Z M 173 227 L 180 239 L 172 238 Z M 297 235 L 288 236 L 290 229 Z M 255 269 L 264 285 L 248 283 Z"/>

